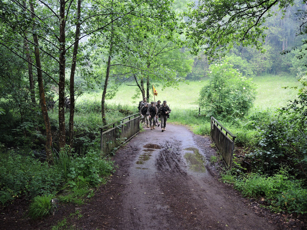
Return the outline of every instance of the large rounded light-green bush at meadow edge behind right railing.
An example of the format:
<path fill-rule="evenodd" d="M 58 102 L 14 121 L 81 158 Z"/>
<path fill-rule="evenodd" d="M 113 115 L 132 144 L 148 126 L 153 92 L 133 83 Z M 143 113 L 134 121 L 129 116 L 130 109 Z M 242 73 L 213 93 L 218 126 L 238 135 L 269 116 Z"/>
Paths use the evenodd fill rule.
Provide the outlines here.
<path fill-rule="evenodd" d="M 209 83 L 200 90 L 197 101 L 207 113 L 242 117 L 253 106 L 255 85 L 232 65 L 211 65 L 208 76 Z"/>

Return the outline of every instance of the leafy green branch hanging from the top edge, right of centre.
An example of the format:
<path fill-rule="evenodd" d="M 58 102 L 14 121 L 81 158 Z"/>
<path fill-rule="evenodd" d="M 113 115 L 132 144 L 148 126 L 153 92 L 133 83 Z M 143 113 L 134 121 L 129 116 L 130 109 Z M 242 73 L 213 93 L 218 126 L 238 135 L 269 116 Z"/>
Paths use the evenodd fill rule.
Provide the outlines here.
<path fill-rule="evenodd" d="M 189 5 L 187 36 L 194 40 L 194 52 L 204 50 L 209 59 L 234 45 L 261 48 L 266 36 L 264 22 L 274 12 L 273 6 L 285 10 L 292 0 L 204 1 Z"/>

